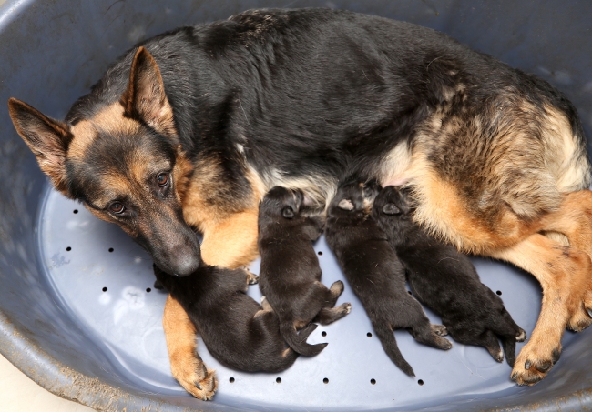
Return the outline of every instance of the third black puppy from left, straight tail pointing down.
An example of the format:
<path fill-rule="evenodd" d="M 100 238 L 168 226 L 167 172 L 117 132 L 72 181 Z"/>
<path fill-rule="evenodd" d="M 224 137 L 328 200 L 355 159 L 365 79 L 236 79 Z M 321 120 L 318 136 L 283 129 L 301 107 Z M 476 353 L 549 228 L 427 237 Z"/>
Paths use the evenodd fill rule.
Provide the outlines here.
<path fill-rule="evenodd" d="M 415 340 L 450 349 L 445 327 L 431 325 L 422 306 L 405 289 L 405 272 L 383 231 L 371 216 L 380 191 L 371 182 L 339 188 L 327 212 L 325 236 L 353 291 L 362 301 L 384 351 L 409 376 L 413 368 L 397 347 L 393 329 L 408 329 Z"/>

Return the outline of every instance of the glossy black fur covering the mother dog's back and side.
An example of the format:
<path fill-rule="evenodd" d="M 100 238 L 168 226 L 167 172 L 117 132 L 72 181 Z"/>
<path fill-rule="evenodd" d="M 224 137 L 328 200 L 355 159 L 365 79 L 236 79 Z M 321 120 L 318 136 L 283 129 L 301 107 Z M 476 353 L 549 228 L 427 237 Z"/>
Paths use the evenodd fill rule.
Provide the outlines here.
<path fill-rule="evenodd" d="M 243 156 L 260 176 L 280 170 L 321 181 L 346 169 L 375 176 L 388 150 L 412 140 L 446 101 L 446 90 L 459 84 L 471 90 L 453 102 L 459 116 L 467 107 L 489 110 L 484 105 L 512 85 L 564 111 L 586 152 L 576 110 L 564 95 L 418 25 L 329 9 L 251 10 L 141 45 L 158 63 L 181 145 L 191 158 L 220 159 L 219 179 L 229 185 L 218 194 L 225 206 L 240 207 L 250 195 Z M 66 122 L 76 124 L 120 98 L 134 52 L 77 101 Z"/>

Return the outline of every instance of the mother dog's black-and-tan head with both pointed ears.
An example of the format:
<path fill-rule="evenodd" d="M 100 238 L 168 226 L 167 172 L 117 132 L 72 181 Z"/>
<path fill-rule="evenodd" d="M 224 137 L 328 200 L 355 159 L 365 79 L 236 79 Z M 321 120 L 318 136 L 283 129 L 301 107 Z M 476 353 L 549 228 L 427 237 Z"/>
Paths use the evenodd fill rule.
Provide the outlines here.
<path fill-rule="evenodd" d="M 117 223 L 169 274 L 198 268 L 199 239 L 181 207 L 190 170 L 158 65 L 144 47 L 133 58 L 125 92 L 115 103 L 95 102 L 87 116 L 60 122 L 14 98 L 8 107 L 57 190 Z"/>

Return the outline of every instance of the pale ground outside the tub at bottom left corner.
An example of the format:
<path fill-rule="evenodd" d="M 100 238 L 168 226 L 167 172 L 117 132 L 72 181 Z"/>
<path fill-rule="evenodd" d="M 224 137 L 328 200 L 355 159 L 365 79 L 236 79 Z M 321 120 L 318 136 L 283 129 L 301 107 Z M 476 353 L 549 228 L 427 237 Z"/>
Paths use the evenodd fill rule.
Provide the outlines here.
<path fill-rule="evenodd" d="M 94 412 L 95 409 L 56 397 L 0 355 L 0 411 Z"/>

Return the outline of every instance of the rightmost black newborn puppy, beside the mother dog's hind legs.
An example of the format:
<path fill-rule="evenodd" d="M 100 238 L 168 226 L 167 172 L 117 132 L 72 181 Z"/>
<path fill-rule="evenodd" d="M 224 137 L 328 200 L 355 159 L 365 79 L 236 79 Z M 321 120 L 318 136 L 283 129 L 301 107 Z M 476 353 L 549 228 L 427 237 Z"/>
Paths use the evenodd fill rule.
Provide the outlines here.
<path fill-rule="evenodd" d="M 485 347 L 498 362 L 514 367 L 515 342 L 526 339 L 502 299 L 479 280 L 471 260 L 413 223 L 403 190 L 387 186 L 374 200 L 373 217 L 403 262 L 413 294 L 442 317 L 455 341 Z"/>

